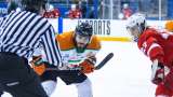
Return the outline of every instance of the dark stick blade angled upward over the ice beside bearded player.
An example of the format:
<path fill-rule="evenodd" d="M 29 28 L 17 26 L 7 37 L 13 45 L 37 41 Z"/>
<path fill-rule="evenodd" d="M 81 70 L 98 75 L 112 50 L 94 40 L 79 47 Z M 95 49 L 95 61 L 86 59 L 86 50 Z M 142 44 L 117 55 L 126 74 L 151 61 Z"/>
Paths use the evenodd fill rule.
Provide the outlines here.
<path fill-rule="evenodd" d="M 112 56 L 114 56 L 114 53 L 109 53 L 109 54 L 102 60 L 102 63 L 95 67 L 95 70 L 98 70 L 98 69 L 101 69 L 103 66 L 105 66 L 105 64 L 106 64 L 108 60 L 110 60 L 110 59 L 112 58 Z"/>

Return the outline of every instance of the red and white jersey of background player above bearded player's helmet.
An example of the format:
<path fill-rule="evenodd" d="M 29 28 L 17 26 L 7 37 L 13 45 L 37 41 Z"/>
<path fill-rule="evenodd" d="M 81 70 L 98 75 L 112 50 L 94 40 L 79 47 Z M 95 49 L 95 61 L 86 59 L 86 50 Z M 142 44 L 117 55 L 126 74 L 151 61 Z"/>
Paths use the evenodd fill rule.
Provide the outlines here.
<path fill-rule="evenodd" d="M 78 9 L 75 12 L 72 10 L 69 10 L 67 18 L 82 18 L 82 14 Z"/>

